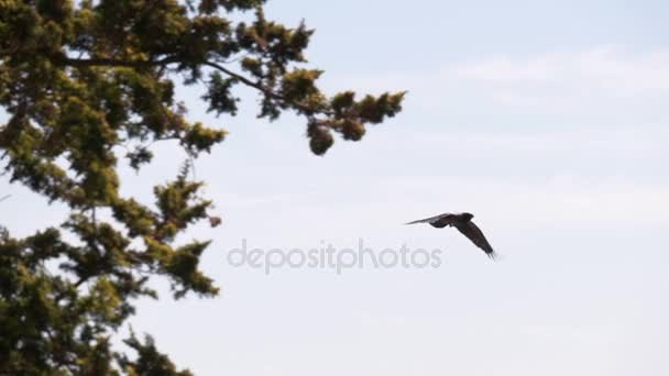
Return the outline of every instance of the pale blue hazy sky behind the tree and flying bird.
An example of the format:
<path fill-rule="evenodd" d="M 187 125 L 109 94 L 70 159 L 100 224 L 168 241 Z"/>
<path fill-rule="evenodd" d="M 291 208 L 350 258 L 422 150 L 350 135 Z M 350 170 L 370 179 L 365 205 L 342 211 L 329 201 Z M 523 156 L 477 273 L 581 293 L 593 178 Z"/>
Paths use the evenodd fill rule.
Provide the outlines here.
<path fill-rule="evenodd" d="M 197 162 L 223 224 L 202 269 L 215 299 L 142 300 L 131 320 L 197 375 L 667 375 L 669 30 L 666 1 L 272 0 L 317 30 L 328 92 L 408 90 L 404 111 L 308 150 L 301 119 L 206 113 L 229 137 Z M 122 192 L 151 202 L 183 156 L 161 144 Z M 7 179 L 7 178 L 4 178 Z M 66 211 L 0 180 L 17 235 Z M 0 195 L 2 196 L 2 195 Z M 7 211 L 4 211 L 7 210 Z M 501 259 L 452 229 L 402 223 L 474 213 Z M 11 215 L 8 221 L 8 213 Z M 435 268 L 228 263 L 262 250 L 439 248 Z M 167 291 L 167 286 L 155 283 Z"/>

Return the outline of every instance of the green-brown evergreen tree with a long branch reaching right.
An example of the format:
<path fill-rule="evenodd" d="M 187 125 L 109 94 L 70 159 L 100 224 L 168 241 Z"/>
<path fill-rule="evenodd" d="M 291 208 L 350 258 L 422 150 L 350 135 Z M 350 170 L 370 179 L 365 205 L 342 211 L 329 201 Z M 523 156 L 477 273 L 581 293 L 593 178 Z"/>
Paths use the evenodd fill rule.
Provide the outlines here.
<path fill-rule="evenodd" d="M 217 294 L 198 269 L 209 242 L 175 242 L 197 221 L 219 221 L 190 164 L 154 188 L 153 206 L 119 193 L 119 164 L 140 170 L 153 143 L 176 141 L 191 161 L 223 141 L 224 130 L 188 121 L 175 81 L 201 87 L 218 115 L 235 114 L 237 87 L 253 88 L 259 118 L 299 114 L 317 155 L 333 133 L 358 141 L 365 124 L 401 110 L 403 92 L 322 93 L 322 71 L 303 67 L 312 31 L 266 20 L 263 3 L 0 0 L 2 168 L 70 210 L 65 223 L 24 239 L 0 228 L 0 373 L 188 374 L 151 338 L 125 340 L 132 357 L 110 345 L 133 302 L 156 297 L 151 277 L 167 278 L 176 299 Z"/>

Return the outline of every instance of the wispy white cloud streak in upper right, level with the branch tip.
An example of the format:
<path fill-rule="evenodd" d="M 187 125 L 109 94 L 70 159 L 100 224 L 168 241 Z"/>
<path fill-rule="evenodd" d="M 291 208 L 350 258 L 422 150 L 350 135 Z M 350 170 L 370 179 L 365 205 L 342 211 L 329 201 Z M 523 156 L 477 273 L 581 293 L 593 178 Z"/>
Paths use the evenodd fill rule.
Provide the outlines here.
<path fill-rule="evenodd" d="M 410 106 L 450 113 L 583 114 L 603 110 L 650 113 L 666 120 L 669 49 L 635 52 L 596 46 L 535 55 L 500 54 L 445 62 L 435 69 L 333 77 L 337 89 L 408 89 Z M 323 78 L 328 80 L 327 75 Z M 408 108 L 408 107 L 407 107 Z"/>

